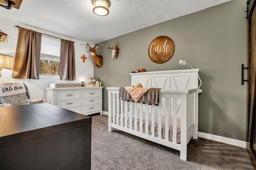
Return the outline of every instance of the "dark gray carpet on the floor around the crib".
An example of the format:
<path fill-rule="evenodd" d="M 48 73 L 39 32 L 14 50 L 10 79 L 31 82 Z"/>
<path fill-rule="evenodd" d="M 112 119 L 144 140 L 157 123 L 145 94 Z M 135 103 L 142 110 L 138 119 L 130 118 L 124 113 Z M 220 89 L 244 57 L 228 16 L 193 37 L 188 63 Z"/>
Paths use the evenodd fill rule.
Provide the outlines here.
<path fill-rule="evenodd" d="M 108 132 L 108 116 L 92 116 L 92 170 L 253 170 L 246 149 L 203 138 L 180 151 L 122 131 Z"/>

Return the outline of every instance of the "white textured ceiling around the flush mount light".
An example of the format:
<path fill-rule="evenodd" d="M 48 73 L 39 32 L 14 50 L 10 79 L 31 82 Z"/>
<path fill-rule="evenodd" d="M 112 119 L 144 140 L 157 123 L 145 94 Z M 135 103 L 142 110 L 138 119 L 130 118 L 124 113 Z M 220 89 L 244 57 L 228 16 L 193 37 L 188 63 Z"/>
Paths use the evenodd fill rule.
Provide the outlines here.
<path fill-rule="evenodd" d="M 23 0 L 0 17 L 84 42 L 100 43 L 229 0 L 110 0 L 108 16 L 92 12 L 91 0 Z"/>

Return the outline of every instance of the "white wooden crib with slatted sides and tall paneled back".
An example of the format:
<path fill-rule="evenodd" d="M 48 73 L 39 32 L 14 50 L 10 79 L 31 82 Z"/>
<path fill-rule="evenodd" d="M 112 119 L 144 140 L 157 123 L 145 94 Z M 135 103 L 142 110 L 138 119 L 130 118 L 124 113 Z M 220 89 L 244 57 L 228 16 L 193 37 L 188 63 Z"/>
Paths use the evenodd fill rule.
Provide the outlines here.
<path fill-rule="evenodd" d="M 108 87 L 108 131 L 119 129 L 180 150 L 186 160 L 188 142 L 198 139 L 198 71 L 130 73 L 132 85 L 161 88 L 158 105 L 118 100 L 119 87 Z"/>

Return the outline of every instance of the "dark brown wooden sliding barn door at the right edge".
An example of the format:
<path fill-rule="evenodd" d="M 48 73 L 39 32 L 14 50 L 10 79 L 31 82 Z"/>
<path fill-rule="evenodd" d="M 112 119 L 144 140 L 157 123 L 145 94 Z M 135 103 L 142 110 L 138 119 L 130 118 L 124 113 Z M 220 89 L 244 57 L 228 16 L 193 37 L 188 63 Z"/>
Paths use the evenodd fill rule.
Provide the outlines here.
<path fill-rule="evenodd" d="M 248 0 L 248 116 L 247 150 L 256 167 L 256 5 Z"/>

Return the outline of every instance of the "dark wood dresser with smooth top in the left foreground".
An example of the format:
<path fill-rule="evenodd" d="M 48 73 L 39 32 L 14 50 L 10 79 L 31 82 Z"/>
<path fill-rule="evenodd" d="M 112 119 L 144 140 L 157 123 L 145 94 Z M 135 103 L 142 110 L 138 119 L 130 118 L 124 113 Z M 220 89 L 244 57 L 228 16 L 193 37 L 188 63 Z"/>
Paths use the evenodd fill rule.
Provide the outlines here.
<path fill-rule="evenodd" d="M 92 117 L 51 104 L 0 107 L 0 169 L 91 168 Z"/>

